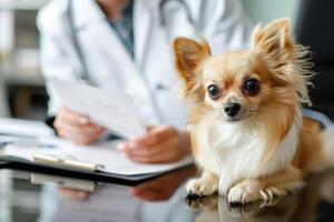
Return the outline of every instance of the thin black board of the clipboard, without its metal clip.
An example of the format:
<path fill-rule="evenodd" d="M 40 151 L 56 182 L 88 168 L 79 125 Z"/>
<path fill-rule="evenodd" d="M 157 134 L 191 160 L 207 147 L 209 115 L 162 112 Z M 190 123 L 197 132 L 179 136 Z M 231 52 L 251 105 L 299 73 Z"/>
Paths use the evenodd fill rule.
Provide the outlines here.
<path fill-rule="evenodd" d="M 22 170 L 22 171 L 43 173 L 43 174 L 52 174 L 52 175 L 76 178 L 82 180 L 92 180 L 92 181 L 116 183 L 120 185 L 130 185 L 130 186 L 138 185 L 150 179 L 181 169 L 178 168 L 170 171 L 165 171 L 159 173 L 148 173 L 141 175 L 120 175 L 115 173 L 92 172 L 92 171 L 90 172 L 80 169 L 76 170 L 73 168 L 69 169 L 69 168 L 61 168 L 56 165 L 46 165 L 39 162 L 32 162 L 29 160 L 13 158 L 13 157 L 0 157 L 0 167 L 2 169 Z M 187 167 L 183 167 L 183 168 L 187 168 Z"/>

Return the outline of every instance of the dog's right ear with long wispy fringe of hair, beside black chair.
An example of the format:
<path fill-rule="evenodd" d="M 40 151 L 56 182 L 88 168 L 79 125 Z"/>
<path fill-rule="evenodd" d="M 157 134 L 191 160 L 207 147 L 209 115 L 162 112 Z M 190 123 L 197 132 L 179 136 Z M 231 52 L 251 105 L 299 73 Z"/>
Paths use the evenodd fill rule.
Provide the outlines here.
<path fill-rule="evenodd" d="M 253 50 L 264 54 L 276 81 L 293 85 L 299 101 L 311 104 L 307 91 L 313 77 L 310 51 L 293 40 L 288 19 L 277 19 L 264 28 L 257 26 L 253 31 Z"/>

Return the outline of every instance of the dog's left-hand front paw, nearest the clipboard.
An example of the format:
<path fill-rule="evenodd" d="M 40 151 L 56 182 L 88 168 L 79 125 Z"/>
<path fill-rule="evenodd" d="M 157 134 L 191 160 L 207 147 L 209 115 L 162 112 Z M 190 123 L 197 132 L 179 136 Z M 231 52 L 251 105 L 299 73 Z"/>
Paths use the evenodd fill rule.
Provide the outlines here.
<path fill-rule="evenodd" d="M 189 194 L 193 195 L 212 195 L 217 192 L 218 183 L 212 180 L 206 180 L 203 178 L 193 179 L 190 180 L 187 185 L 186 190 Z"/>

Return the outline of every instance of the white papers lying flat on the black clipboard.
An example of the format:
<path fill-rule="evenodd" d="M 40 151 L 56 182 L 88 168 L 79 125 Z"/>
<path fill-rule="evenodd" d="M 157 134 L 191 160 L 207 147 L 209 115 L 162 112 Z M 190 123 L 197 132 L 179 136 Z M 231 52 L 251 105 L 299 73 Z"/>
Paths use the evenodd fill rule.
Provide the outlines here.
<path fill-rule="evenodd" d="M 75 160 L 81 163 L 102 165 L 102 172 L 122 175 L 165 172 L 193 163 L 190 155 L 173 163 L 144 164 L 134 162 L 117 150 L 116 147 L 119 141 L 102 142 L 95 145 L 76 145 L 62 139 L 49 138 L 40 139 L 38 141 L 40 145 L 33 145 L 31 142 L 27 143 L 29 147 L 24 145 L 24 141 L 18 141 L 19 143 L 8 144 L 3 148 L 2 155 L 30 161 L 33 160 L 33 155 L 36 154 L 58 157 L 62 160 Z"/>

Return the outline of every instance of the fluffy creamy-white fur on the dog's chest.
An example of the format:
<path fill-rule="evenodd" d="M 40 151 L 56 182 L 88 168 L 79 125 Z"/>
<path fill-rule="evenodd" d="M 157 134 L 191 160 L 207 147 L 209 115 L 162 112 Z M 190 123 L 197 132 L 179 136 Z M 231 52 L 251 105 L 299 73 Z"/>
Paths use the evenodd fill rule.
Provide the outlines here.
<path fill-rule="evenodd" d="M 297 111 L 288 132 L 264 162 L 265 152 L 274 145 L 275 125 L 224 123 L 206 117 L 194 131 L 198 144 L 196 161 L 219 176 L 220 192 L 227 192 L 242 179 L 277 172 L 288 167 L 295 155 L 301 119 Z"/>

